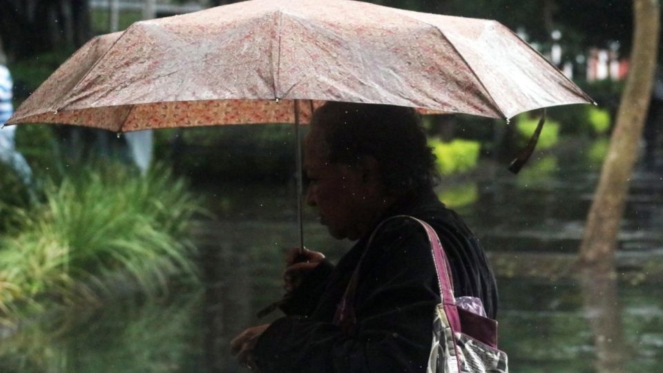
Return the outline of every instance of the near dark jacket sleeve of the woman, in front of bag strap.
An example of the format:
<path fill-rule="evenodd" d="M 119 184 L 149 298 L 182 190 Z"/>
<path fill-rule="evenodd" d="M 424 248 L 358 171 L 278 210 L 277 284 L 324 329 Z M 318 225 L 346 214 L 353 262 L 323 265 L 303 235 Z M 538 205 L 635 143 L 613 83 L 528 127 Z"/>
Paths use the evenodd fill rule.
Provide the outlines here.
<path fill-rule="evenodd" d="M 330 321 L 280 318 L 258 340 L 261 372 L 425 372 L 439 303 L 430 246 L 410 220 L 383 225 L 365 258 L 349 334 Z"/>

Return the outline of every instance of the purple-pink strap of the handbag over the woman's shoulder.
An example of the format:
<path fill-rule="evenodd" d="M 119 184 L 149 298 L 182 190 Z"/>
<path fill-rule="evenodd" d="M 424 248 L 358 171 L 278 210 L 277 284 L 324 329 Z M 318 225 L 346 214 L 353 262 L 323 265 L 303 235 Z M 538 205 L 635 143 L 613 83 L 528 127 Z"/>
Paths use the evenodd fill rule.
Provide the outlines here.
<path fill-rule="evenodd" d="M 371 234 L 366 248 L 357 263 L 357 267 L 352 274 L 352 278 L 345 289 L 343 298 L 341 298 L 340 303 L 336 307 L 336 314 L 334 314 L 334 324 L 339 325 L 343 330 L 347 331 L 356 323 L 356 314 L 354 312 L 354 294 L 358 285 L 359 280 L 359 269 L 361 268 L 361 263 L 363 262 L 364 256 L 366 255 L 373 238 L 376 235 L 376 232 L 385 224 L 386 222 L 395 219 L 395 218 L 408 218 L 418 222 L 421 227 L 426 231 L 426 236 L 431 247 L 431 253 L 433 256 L 433 262 L 435 264 L 436 274 L 438 285 L 440 287 L 440 296 L 442 299 L 443 307 L 445 309 L 445 314 L 449 320 L 450 326 L 454 332 L 461 332 L 461 322 L 458 316 L 458 309 L 456 308 L 456 298 L 454 298 L 454 286 L 451 276 L 451 267 L 449 265 L 449 260 L 444 252 L 442 244 L 435 230 L 423 220 L 419 220 L 412 216 L 399 215 L 392 218 L 383 220 L 378 227 L 374 229 Z"/>

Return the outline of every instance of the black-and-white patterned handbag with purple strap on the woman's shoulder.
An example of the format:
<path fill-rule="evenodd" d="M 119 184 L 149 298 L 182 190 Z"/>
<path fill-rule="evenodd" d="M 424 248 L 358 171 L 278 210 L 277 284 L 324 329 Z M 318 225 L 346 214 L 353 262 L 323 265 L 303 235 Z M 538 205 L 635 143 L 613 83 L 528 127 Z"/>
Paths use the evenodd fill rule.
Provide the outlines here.
<path fill-rule="evenodd" d="M 433 315 L 432 343 L 426 372 L 508 373 L 507 355 L 497 349 L 497 321 L 485 316 L 478 298 L 461 297 L 458 302 L 454 298 L 451 267 L 437 233 L 429 224 L 412 216 L 394 218 L 412 219 L 426 231 L 440 287 L 441 303 L 435 307 Z M 367 247 L 375 232 L 387 220 L 375 229 Z M 356 323 L 352 300 L 358 283 L 359 265 L 334 316 L 334 323 L 344 330 Z"/>

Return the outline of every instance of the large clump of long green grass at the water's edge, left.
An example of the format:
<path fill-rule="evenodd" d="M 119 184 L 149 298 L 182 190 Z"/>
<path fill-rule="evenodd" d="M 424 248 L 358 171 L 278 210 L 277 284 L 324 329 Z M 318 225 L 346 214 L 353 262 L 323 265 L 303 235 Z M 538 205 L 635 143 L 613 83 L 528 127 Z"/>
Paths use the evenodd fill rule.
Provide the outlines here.
<path fill-rule="evenodd" d="M 96 302 L 121 291 L 164 294 L 172 276 L 195 278 L 187 224 L 200 211 L 163 166 L 145 177 L 95 164 L 45 187 L 44 204 L 17 213 L 0 241 L 0 315 Z"/>

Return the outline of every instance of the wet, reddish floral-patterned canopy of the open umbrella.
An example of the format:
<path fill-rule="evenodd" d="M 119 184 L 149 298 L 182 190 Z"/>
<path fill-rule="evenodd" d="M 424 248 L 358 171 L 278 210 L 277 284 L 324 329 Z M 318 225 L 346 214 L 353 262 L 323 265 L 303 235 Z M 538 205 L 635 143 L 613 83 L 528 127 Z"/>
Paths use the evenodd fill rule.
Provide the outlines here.
<path fill-rule="evenodd" d="M 70 57 L 8 124 L 137 131 L 300 122 L 324 101 L 509 118 L 591 102 L 496 21 L 349 0 L 251 0 L 134 23 Z M 290 102 L 290 104 L 288 103 Z"/>

